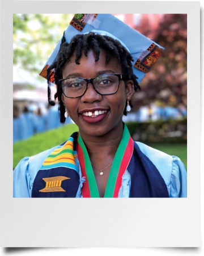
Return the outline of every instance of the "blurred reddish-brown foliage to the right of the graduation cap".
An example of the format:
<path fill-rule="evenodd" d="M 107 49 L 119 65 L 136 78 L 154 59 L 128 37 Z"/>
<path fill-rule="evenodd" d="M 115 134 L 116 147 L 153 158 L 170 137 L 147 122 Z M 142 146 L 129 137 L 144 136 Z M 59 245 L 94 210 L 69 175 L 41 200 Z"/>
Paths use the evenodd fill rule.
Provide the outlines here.
<path fill-rule="evenodd" d="M 187 106 L 187 15 L 164 14 L 158 27 L 151 20 L 135 27 L 143 35 L 165 48 L 151 72 L 134 94 L 134 109 L 154 102 L 157 106 Z"/>

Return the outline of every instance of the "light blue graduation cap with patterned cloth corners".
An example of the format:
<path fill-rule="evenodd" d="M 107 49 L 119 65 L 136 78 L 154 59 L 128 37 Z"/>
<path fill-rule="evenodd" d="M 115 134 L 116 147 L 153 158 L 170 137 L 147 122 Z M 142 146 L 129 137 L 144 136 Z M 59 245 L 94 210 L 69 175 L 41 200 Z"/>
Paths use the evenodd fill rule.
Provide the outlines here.
<path fill-rule="evenodd" d="M 129 27 L 112 14 L 75 14 L 65 30 L 65 39 L 67 43 L 70 43 L 73 36 L 90 31 L 108 33 L 113 39 L 122 42 L 126 49 L 128 48 L 134 60 L 133 72 L 138 77 L 138 82 L 141 82 L 146 73 L 150 71 L 151 66 L 164 50 L 159 44 Z M 46 78 L 46 70 L 56 59 L 60 45 L 61 40 L 42 69 L 40 73 L 42 77 Z M 54 70 L 50 82 L 54 83 Z"/>

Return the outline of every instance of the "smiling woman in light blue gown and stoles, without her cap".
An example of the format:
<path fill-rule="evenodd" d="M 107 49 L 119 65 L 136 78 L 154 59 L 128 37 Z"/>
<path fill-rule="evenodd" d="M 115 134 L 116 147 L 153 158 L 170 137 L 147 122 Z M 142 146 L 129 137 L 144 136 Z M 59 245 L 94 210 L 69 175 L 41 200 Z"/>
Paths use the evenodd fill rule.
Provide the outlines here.
<path fill-rule="evenodd" d="M 180 159 L 134 142 L 122 122 L 139 88 L 132 61 L 110 33 L 76 33 L 70 43 L 64 33 L 47 78 L 54 72 L 61 122 L 70 116 L 79 132 L 20 161 L 15 197 L 186 197 Z"/>

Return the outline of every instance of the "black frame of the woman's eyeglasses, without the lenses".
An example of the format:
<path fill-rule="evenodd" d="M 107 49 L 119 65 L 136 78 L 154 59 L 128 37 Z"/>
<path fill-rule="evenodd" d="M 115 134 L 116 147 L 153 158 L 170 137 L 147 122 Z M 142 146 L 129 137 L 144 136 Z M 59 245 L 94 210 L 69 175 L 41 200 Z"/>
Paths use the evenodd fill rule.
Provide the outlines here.
<path fill-rule="evenodd" d="M 102 93 L 99 93 L 99 92 L 96 90 L 93 81 L 94 81 L 94 79 L 95 79 L 96 77 L 101 77 L 102 75 L 116 75 L 116 76 L 118 77 L 118 87 L 117 87 L 117 90 L 116 90 L 114 93 L 102 94 Z M 72 97 L 72 96 L 67 96 L 67 95 L 65 95 L 65 93 L 64 93 L 64 91 L 63 91 L 63 89 L 62 89 L 63 95 L 65 95 L 66 98 L 79 98 L 79 97 L 82 97 L 82 96 L 86 93 L 89 83 L 91 83 L 91 85 L 94 87 L 94 90 L 96 91 L 96 93 L 98 93 L 98 94 L 100 94 L 100 95 L 112 95 L 112 94 L 117 93 L 121 80 L 124 80 L 124 81 L 125 81 L 125 80 L 128 80 L 128 79 L 129 79 L 127 75 L 115 74 L 115 73 L 113 73 L 113 74 L 101 74 L 101 75 L 96 75 L 96 77 L 93 77 L 93 78 L 77 77 L 77 78 L 83 79 L 83 80 L 86 81 L 86 83 L 87 83 L 87 84 L 86 84 L 86 89 L 85 89 L 84 93 L 83 93 L 82 95 L 80 95 L 80 96 Z M 59 85 L 61 88 L 62 88 L 62 82 L 65 81 L 66 79 L 69 79 L 69 78 L 59 79 L 58 85 Z"/>

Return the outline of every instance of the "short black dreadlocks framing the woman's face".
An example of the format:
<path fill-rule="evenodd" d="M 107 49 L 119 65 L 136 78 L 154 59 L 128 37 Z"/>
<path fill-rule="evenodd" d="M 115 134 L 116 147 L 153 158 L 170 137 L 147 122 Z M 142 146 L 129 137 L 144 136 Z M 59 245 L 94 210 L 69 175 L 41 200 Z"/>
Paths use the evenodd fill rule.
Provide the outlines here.
<path fill-rule="evenodd" d="M 87 34 L 76 35 L 71 39 L 70 43 L 66 42 L 65 33 L 63 34 L 61 46 L 58 55 L 52 65 L 49 66 L 47 70 L 48 78 L 48 100 L 50 101 L 50 90 L 49 90 L 49 80 L 54 70 L 54 80 L 57 86 L 57 93 L 54 95 L 54 99 L 58 98 L 59 110 L 60 110 L 60 121 L 65 123 L 65 106 L 62 102 L 62 88 L 58 86 L 59 79 L 62 79 L 62 69 L 70 60 L 73 53 L 76 53 L 75 63 L 80 64 L 80 57 L 82 54 L 88 55 L 88 52 L 93 51 L 96 54 L 95 62 L 99 60 L 100 51 L 103 49 L 106 52 L 105 62 L 108 63 L 111 58 L 117 58 L 118 62 L 121 64 L 122 72 L 128 79 L 133 80 L 134 90 L 140 89 L 137 81 L 137 77 L 133 73 L 133 65 L 131 61 L 133 58 L 131 54 L 126 50 L 125 47 L 121 45 L 118 40 L 112 39 L 109 36 L 102 36 L 89 32 Z M 126 103 L 127 104 L 127 103 Z M 131 102 L 130 102 L 130 106 Z M 126 108 L 124 110 L 124 115 L 126 115 Z"/>

